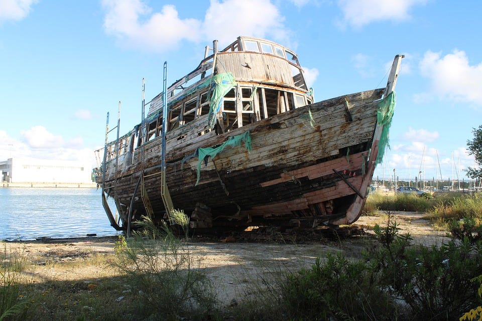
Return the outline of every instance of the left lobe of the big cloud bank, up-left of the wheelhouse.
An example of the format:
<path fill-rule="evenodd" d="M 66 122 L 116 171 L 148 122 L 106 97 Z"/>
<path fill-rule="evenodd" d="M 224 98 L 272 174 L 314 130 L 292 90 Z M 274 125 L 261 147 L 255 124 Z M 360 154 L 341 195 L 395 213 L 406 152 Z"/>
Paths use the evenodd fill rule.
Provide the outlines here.
<path fill-rule="evenodd" d="M 162 52 L 182 40 L 196 41 L 199 38 L 201 22 L 180 19 L 173 5 L 166 5 L 160 13 L 154 14 L 141 0 L 104 0 L 102 5 L 107 10 L 105 31 L 116 36 L 123 46 L 141 46 Z M 143 17 L 146 17 L 145 21 L 141 21 Z"/>

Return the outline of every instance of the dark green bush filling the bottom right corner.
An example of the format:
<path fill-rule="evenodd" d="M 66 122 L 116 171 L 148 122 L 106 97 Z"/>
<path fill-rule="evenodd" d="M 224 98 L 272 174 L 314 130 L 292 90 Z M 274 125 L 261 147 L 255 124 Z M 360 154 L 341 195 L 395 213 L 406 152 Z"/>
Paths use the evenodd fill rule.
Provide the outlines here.
<path fill-rule="evenodd" d="M 480 242 L 465 237 L 440 248 L 410 246 L 410 236 L 399 236 L 392 226 L 380 229 L 383 246 L 365 254 L 380 272 L 381 286 L 410 306 L 412 318 L 452 320 L 473 306 L 476 286 L 470 280 L 482 273 Z"/>

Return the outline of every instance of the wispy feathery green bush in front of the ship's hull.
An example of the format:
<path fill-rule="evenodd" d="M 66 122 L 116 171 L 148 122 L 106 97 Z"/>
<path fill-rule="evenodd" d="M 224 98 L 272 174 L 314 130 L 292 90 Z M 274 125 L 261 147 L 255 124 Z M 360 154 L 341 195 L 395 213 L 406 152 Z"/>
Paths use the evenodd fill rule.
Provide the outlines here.
<path fill-rule="evenodd" d="M 171 217 L 187 233 L 182 212 Z M 133 233 L 118 251 L 117 267 L 127 273 L 126 282 L 138 297 L 139 314 L 148 318 L 206 319 L 216 314 L 210 280 L 200 269 L 200 259 L 187 241 L 176 237 L 164 222 L 160 228 L 144 217 L 143 229 Z"/>

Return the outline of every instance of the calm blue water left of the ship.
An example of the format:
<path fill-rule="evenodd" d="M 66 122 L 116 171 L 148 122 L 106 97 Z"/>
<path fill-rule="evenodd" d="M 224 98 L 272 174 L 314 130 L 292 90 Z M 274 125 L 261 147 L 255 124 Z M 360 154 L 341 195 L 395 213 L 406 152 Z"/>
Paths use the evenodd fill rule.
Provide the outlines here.
<path fill-rule="evenodd" d="M 111 206 L 114 211 L 115 207 Z M 90 188 L 0 188 L 0 240 L 117 235 Z"/>

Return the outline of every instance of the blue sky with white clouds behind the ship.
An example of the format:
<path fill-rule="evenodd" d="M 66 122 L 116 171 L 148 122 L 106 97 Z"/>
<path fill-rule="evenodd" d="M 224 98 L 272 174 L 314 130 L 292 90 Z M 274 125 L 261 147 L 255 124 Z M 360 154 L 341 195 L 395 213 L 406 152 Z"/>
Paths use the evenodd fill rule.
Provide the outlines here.
<path fill-rule="evenodd" d="M 385 87 L 404 54 L 375 177 L 466 179 L 466 141 L 482 124 L 480 12 L 478 0 L 0 0 L 0 160 L 94 166 L 107 111 L 112 127 L 122 101 L 121 133 L 140 122 L 143 77 L 149 101 L 164 61 L 172 83 L 212 40 L 244 35 L 293 49 L 316 101 Z"/>

